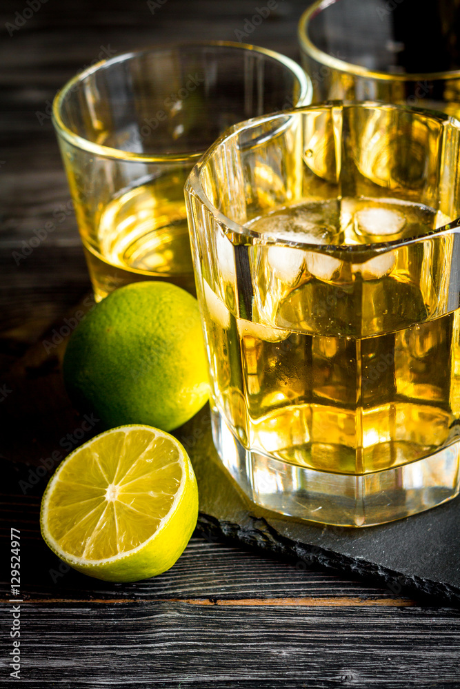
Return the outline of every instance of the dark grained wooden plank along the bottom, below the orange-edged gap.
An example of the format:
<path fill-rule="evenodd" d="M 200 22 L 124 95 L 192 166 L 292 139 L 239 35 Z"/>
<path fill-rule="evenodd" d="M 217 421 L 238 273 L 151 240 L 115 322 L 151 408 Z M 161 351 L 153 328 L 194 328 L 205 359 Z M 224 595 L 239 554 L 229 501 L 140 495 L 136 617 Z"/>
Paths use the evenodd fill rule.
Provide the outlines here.
<path fill-rule="evenodd" d="M 26 686 L 460 686 L 451 613 L 143 601 L 23 604 L 21 617 Z"/>

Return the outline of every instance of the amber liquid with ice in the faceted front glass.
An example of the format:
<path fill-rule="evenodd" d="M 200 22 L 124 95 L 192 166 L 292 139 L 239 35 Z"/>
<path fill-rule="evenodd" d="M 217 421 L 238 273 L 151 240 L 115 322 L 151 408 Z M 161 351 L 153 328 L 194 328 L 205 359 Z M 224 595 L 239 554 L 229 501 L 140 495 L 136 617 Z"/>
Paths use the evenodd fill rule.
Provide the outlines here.
<path fill-rule="evenodd" d="M 359 265 L 319 246 L 421 236 L 448 220 L 399 200 L 346 198 L 252 221 L 268 238 L 318 246 L 254 249 L 248 320 L 204 283 L 212 403 L 243 446 L 299 466 L 363 474 L 458 438 L 460 309 L 430 316 L 433 275 L 443 279 L 449 238 L 430 256 L 420 246 L 378 255 L 370 247 Z M 417 261 L 427 266 L 422 280 Z"/>

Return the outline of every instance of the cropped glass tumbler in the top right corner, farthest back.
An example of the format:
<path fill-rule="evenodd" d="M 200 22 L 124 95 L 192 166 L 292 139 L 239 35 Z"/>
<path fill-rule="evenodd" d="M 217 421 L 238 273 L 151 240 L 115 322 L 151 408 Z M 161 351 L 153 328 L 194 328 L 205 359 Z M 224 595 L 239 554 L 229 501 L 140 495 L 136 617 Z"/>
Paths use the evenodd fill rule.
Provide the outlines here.
<path fill-rule="evenodd" d="M 460 114 L 460 3 L 317 0 L 302 14 L 314 101 L 401 103 Z"/>

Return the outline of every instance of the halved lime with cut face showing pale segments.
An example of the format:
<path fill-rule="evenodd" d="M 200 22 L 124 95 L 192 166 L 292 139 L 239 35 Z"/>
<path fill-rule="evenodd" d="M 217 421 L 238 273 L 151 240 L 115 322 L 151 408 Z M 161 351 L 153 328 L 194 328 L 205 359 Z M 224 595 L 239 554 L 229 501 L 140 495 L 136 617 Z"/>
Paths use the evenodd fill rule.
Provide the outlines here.
<path fill-rule="evenodd" d="M 41 501 L 41 533 L 74 569 L 109 582 L 166 571 L 197 523 L 190 459 L 169 433 L 130 425 L 74 450 Z"/>

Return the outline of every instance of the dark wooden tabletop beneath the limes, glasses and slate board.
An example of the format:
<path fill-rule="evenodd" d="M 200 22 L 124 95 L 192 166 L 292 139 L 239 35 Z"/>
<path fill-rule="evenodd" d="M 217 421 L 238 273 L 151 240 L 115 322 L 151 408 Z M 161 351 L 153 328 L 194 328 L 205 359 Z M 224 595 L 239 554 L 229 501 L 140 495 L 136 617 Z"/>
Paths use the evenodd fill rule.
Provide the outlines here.
<path fill-rule="evenodd" d="M 20 483 L 30 472 L 37 476 L 43 453 L 59 446 L 60 436 L 58 429 L 47 431 L 45 448 L 33 423 L 41 400 L 22 399 L 3 380 L 18 366 L 28 366 L 32 378 L 43 373 L 27 363 L 37 358 L 43 332 L 52 332 L 54 321 L 90 289 L 50 122 L 54 93 L 106 54 L 159 41 L 238 39 L 235 31 L 247 31 L 266 4 L 3 0 L 0 415 L 8 395 L 18 395 L 15 408 L 23 412 L 0 435 L 1 686 L 16 681 L 8 665 L 16 628 L 10 611 L 18 605 L 10 604 L 10 528 L 21 531 L 20 677 L 28 687 L 460 686 L 454 608 L 199 535 L 168 573 L 103 584 L 68 570 L 41 541 L 37 518 L 46 477 L 25 489 Z M 30 16 L 28 8 L 37 5 Z M 278 0 L 248 42 L 298 59 L 296 25 L 305 6 Z M 46 240 L 31 244 L 34 230 L 49 221 L 54 229 Z"/>

